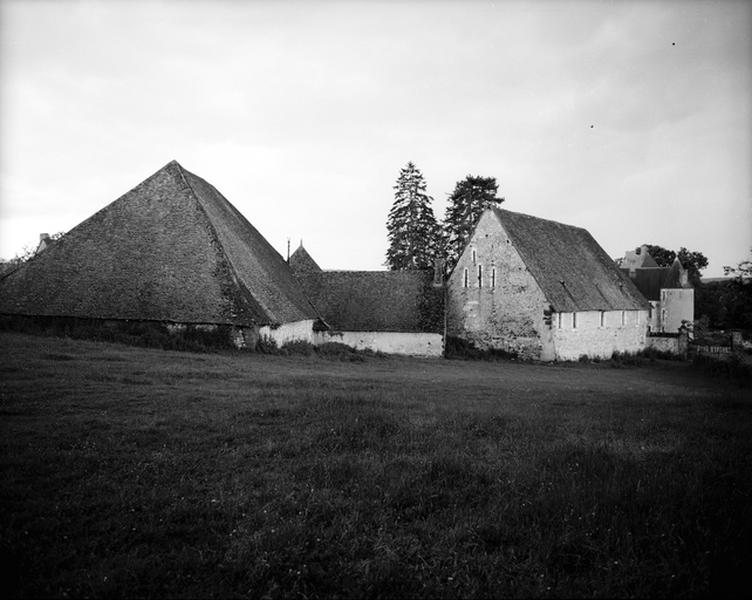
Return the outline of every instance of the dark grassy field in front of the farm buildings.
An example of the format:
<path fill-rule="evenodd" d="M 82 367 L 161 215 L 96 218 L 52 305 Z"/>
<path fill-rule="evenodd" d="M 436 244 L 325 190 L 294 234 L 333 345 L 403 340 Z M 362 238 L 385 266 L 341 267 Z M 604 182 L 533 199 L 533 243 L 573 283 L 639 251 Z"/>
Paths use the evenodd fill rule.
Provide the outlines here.
<path fill-rule="evenodd" d="M 4 597 L 741 595 L 749 388 L 0 334 Z"/>

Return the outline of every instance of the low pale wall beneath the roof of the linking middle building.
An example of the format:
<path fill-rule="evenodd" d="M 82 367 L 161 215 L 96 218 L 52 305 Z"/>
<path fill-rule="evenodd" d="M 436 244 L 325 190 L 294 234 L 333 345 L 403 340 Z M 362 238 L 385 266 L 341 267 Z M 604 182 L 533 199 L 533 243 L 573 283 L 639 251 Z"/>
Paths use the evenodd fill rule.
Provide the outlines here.
<path fill-rule="evenodd" d="M 372 350 L 408 356 L 442 356 L 440 333 L 404 333 L 397 331 L 321 331 L 314 334 L 315 344 L 338 342 L 356 350 Z"/>

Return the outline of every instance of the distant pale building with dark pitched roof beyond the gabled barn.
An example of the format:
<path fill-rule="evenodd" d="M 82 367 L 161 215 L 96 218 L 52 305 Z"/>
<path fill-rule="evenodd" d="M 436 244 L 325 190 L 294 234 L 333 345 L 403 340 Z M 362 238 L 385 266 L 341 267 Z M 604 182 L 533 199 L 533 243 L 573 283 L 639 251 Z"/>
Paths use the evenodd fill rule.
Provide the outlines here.
<path fill-rule="evenodd" d="M 650 302 L 649 332 L 678 333 L 693 322 L 695 291 L 678 258 L 670 267 L 659 267 L 647 247 L 642 246 L 638 251 L 626 252 L 621 270 Z"/>

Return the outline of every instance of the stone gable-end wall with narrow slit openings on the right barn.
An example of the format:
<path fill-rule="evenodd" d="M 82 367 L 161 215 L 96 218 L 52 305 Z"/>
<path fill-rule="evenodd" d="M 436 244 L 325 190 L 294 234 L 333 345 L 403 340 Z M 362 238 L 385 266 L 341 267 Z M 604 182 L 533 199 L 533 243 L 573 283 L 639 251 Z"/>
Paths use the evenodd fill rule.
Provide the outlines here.
<path fill-rule="evenodd" d="M 543 292 L 490 212 L 481 217 L 448 285 L 449 335 L 522 358 L 554 358 Z"/>

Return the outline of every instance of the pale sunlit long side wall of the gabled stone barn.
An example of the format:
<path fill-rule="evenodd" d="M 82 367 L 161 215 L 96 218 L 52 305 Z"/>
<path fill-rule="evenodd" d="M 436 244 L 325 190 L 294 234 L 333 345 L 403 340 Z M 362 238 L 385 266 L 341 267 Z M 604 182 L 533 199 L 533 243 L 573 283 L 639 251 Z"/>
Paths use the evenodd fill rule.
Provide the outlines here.
<path fill-rule="evenodd" d="M 555 313 L 552 318 L 556 360 L 611 358 L 614 352 L 638 352 L 645 348 L 647 310 L 581 311 Z"/>

